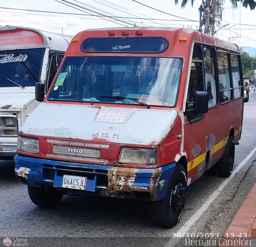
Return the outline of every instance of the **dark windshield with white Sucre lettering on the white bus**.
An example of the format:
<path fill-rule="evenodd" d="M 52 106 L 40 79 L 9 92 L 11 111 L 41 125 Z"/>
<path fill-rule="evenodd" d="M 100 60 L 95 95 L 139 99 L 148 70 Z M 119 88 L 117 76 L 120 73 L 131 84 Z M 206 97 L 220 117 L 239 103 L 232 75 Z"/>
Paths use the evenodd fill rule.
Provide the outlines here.
<path fill-rule="evenodd" d="M 34 86 L 40 80 L 44 50 L 0 51 L 0 87 Z"/>

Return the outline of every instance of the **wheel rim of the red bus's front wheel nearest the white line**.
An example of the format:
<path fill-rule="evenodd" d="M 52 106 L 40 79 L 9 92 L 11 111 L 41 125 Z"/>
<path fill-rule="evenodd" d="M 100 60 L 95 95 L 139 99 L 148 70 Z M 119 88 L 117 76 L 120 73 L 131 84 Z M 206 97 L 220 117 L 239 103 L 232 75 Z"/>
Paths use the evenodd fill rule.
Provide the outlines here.
<path fill-rule="evenodd" d="M 176 184 L 172 189 L 171 206 L 173 211 L 183 208 L 185 204 L 185 190 L 182 183 Z"/>

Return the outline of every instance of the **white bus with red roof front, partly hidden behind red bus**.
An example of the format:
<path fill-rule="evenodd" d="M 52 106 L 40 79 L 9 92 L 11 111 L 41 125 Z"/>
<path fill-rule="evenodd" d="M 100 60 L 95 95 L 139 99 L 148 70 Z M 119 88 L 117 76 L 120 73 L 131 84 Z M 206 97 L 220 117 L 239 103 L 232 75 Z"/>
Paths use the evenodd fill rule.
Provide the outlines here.
<path fill-rule="evenodd" d="M 48 91 L 71 37 L 0 27 L 0 160 L 16 154 L 18 130 L 37 107 L 35 83 Z"/>

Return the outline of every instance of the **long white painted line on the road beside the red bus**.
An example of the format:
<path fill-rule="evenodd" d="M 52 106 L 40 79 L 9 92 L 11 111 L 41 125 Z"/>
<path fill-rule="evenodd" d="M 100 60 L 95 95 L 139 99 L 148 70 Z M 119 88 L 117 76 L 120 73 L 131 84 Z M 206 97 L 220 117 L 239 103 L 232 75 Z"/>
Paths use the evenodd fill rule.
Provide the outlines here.
<path fill-rule="evenodd" d="M 220 195 L 220 192 L 225 188 L 225 186 L 232 180 L 232 178 L 236 175 L 239 170 L 246 164 L 246 162 L 252 157 L 252 155 L 256 152 L 256 147 L 248 154 L 244 160 L 236 167 L 236 169 L 231 173 L 231 175 L 226 178 L 220 186 L 210 195 L 210 197 L 204 202 L 204 204 L 188 219 L 188 221 L 177 231 L 180 236 L 186 236 L 186 233 L 196 223 L 196 221 L 199 219 L 199 217 L 208 209 L 210 204 Z M 165 247 L 174 247 L 178 242 L 180 241 L 180 238 L 174 237 L 170 239 Z"/>

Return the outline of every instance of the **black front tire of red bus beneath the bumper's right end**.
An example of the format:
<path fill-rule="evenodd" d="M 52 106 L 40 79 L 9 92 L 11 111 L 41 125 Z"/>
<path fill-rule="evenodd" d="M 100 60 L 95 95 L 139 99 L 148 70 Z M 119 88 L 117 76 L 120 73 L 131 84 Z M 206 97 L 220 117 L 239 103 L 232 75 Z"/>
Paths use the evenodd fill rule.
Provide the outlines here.
<path fill-rule="evenodd" d="M 166 228 L 176 225 L 184 208 L 186 188 L 186 170 L 177 163 L 166 196 L 152 205 L 154 222 L 157 225 Z"/>

